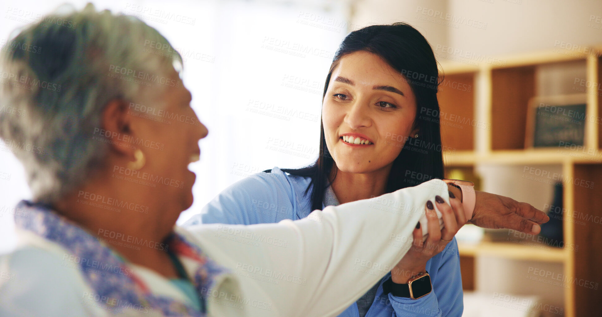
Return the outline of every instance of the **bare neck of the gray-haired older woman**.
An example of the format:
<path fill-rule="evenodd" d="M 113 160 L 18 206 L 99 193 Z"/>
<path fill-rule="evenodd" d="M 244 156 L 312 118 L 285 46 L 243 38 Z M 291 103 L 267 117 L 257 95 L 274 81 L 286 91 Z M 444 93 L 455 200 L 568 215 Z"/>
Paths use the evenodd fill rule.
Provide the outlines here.
<path fill-rule="evenodd" d="M 172 232 L 179 211 L 161 205 L 158 197 L 162 196 L 152 188 L 140 187 L 114 178 L 96 180 L 65 195 L 52 207 L 126 260 L 172 277 L 176 273 L 164 240 Z"/>

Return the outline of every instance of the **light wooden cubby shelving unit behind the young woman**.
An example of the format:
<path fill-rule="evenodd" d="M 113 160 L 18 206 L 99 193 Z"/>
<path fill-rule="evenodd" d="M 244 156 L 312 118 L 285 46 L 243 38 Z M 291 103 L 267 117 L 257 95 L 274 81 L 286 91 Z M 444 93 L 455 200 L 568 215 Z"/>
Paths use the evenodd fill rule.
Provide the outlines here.
<path fill-rule="evenodd" d="M 593 149 L 590 153 L 568 151 L 567 155 L 555 148 L 524 149 L 527 103 L 538 94 L 538 67 L 563 67 L 570 63 L 583 67 L 586 81 L 592 84 L 579 93 L 588 96 L 587 115 L 597 118 L 602 114 L 602 88 L 598 87 L 602 82 L 601 52 L 602 46 L 592 48 L 589 54 L 556 49 L 499 58 L 506 61 L 504 66 L 440 61 L 444 74 L 438 93 L 442 142 L 452 149 L 444 152 L 446 170 L 470 169 L 479 164 L 560 165 L 563 208 L 568 211 L 563 215 L 563 239 L 566 244 L 579 245 L 579 251 L 569 251 L 511 242 L 459 244 L 465 289 L 475 287 L 474 259 L 479 256 L 560 263 L 563 271 L 559 273 L 568 280 L 601 284 L 592 289 L 577 282 L 567 283 L 569 287 L 563 291 L 564 315 L 594 316 L 602 312 L 602 223 L 586 221 L 578 226 L 571 219 L 575 212 L 602 219 L 602 120 L 585 121 L 585 147 Z M 575 84 L 573 89 L 580 87 Z M 595 186 L 585 188 L 576 185 L 574 179 L 591 180 Z"/>

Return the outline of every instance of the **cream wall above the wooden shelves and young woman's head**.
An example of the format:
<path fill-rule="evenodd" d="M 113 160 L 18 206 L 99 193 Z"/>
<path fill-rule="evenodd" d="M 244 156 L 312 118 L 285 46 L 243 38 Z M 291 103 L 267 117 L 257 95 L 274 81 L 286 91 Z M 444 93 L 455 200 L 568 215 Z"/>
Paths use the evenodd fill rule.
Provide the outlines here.
<path fill-rule="evenodd" d="M 487 56 L 602 43 L 599 0 L 358 0 L 352 12 L 353 25 L 408 22 L 433 49 Z"/>

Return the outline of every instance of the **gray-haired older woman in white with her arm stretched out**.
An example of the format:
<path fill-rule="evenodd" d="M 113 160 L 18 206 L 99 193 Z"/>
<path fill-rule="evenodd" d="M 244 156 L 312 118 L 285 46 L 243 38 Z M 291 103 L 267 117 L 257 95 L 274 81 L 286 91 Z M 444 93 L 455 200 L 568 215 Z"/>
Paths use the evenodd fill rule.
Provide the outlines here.
<path fill-rule="evenodd" d="M 51 17 L 70 23 L 23 29 L 2 60 L 2 103 L 26 115 L 2 113 L 0 137 L 33 192 L 17 206 L 19 245 L 0 259 L 2 316 L 337 315 L 474 199 L 434 179 L 299 221 L 181 229 L 196 178 L 187 165 L 207 135 L 181 57 L 144 51 L 152 41 L 174 52 L 131 16 L 87 5 Z M 483 192 L 468 208 L 486 227 L 547 221 Z M 429 226 L 415 229 L 421 217 Z"/>

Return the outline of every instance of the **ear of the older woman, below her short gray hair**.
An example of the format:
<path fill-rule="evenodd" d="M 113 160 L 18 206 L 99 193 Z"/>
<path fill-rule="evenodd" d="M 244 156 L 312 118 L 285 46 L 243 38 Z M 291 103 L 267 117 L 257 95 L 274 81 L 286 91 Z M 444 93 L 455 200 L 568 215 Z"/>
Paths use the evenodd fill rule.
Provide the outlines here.
<path fill-rule="evenodd" d="M 106 137 L 112 150 L 134 158 L 134 151 L 127 141 L 132 135 L 132 116 L 128 114 L 128 103 L 122 99 L 110 100 L 102 112 L 99 137 Z"/>

